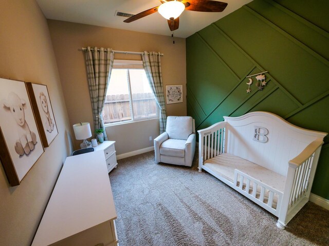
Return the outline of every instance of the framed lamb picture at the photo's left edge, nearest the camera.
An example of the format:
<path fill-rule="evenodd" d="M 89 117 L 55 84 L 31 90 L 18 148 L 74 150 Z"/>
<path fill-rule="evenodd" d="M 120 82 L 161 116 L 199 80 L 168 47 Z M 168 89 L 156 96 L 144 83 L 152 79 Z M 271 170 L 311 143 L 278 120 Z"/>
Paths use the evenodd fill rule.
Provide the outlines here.
<path fill-rule="evenodd" d="M 23 81 L 0 78 L 0 159 L 11 186 L 44 152 Z"/>

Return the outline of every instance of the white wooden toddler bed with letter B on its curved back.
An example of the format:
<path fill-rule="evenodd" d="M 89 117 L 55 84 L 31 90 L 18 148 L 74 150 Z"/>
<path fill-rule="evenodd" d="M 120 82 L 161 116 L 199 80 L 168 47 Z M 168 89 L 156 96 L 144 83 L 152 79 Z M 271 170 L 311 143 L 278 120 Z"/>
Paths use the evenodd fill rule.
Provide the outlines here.
<path fill-rule="evenodd" d="M 206 170 L 286 224 L 306 204 L 323 138 L 268 112 L 224 117 L 199 130 L 199 172 Z"/>

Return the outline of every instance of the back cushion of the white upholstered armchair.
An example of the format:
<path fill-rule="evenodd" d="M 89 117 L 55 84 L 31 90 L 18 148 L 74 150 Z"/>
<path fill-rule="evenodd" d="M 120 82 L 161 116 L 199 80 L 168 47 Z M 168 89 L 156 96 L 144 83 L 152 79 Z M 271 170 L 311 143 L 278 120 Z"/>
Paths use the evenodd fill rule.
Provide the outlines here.
<path fill-rule="evenodd" d="M 190 116 L 168 116 L 166 132 L 169 138 L 186 140 L 193 132 L 193 118 Z"/>

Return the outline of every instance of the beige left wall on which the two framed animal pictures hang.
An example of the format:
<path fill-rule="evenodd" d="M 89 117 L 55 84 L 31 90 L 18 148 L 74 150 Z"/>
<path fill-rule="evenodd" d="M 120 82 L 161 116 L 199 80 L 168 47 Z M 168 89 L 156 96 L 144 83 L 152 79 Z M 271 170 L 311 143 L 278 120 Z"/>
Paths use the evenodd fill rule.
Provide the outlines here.
<path fill-rule="evenodd" d="M 70 125 L 46 19 L 34 0 L 0 1 L 0 76 L 47 85 L 59 134 L 11 187 L 0 164 L 0 245 L 30 245 L 66 156 Z M 0 148 L 4 148 L 1 146 Z"/>

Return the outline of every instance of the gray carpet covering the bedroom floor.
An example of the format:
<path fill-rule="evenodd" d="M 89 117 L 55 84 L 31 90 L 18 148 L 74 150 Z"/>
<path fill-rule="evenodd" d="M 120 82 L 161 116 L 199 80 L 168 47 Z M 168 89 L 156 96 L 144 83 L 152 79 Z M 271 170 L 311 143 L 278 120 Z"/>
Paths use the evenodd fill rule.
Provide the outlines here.
<path fill-rule="evenodd" d="M 329 245 L 329 211 L 308 202 L 286 230 L 277 218 L 206 171 L 156 163 L 154 152 L 118 160 L 110 174 L 120 246 Z"/>

